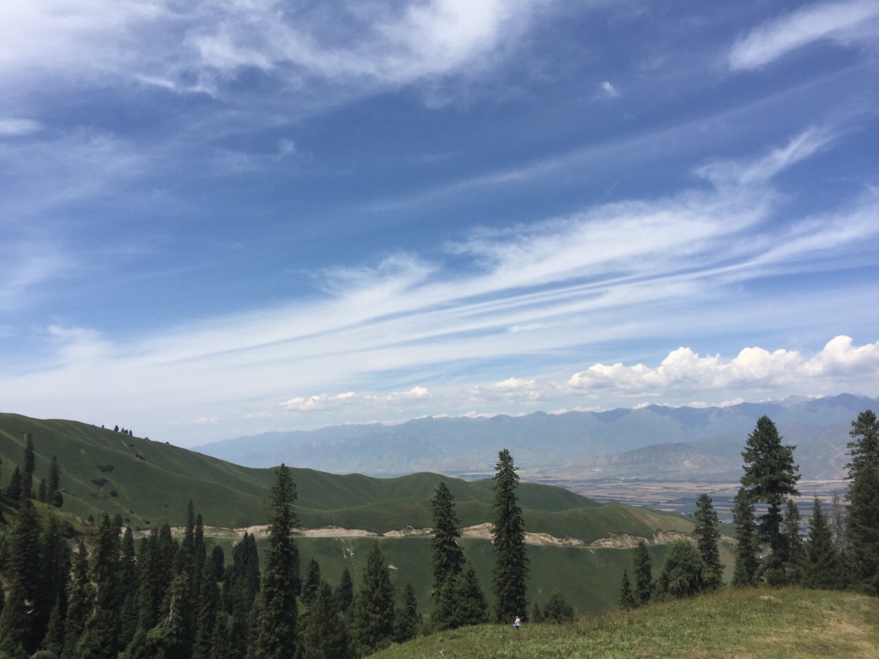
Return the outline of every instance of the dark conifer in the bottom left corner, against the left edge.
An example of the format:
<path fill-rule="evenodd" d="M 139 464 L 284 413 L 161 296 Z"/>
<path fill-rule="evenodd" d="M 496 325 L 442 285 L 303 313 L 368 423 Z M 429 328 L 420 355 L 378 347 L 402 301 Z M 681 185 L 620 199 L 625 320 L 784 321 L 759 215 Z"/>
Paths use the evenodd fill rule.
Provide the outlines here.
<path fill-rule="evenodd" d="M 0 653 L 28 655 L 40 647 L 42 578 L 40 561 L 40 522 L 29 498 L 21 501 L 11 528 L 8 572 L 10 583 L 3 612 L 0 613 Z M 48 614 L 48 611 L 46 611 Z"/>

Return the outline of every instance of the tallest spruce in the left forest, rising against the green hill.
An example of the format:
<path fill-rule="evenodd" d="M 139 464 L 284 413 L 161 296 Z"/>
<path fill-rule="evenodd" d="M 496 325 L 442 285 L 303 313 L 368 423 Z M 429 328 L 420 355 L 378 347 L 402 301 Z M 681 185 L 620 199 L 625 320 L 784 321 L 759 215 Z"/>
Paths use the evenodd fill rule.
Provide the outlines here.
<path fill-rule="evenodd" d="M 296 486 L 281 464 L 269 492 L 269 549 L 259 589 L 253 659 L 293 659 L 296 655 L 296 570 L 299 551 L 291 536 L 298 517 L 293 504 Z"/>

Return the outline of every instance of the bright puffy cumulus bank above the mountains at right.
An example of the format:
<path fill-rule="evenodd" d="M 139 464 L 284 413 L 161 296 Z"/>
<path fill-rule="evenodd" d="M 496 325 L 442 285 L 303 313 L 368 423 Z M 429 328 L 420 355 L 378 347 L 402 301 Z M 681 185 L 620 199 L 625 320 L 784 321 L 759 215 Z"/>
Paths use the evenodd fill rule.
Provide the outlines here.
<path fill-rule="evenodd" d="M 770 391 L 782 387 L 820 390 L 839 382 L 879 380 L 879 342 L 855 346 L 851 337 L 835 337 L 811 358 L 799 351 L 745 348 L 735 358 L 701 357 L 690 348 L 669 353 L 656 367 L 595 364 L 574 373 L 569 386 L 594 393 L 669 395 L 679 391 Z"/>

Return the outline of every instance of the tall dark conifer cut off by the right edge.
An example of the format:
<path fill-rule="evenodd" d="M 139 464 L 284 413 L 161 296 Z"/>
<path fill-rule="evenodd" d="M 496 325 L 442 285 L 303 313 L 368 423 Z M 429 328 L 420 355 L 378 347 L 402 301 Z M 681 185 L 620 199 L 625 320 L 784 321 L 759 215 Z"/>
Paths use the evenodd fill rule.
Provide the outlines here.
<path fill-rule="evenodd" d="M 872 410 L 852 422 L 851 435 L 846 540 L 852 581 L 857 590 L 879 595 L 879 421 Z"/>

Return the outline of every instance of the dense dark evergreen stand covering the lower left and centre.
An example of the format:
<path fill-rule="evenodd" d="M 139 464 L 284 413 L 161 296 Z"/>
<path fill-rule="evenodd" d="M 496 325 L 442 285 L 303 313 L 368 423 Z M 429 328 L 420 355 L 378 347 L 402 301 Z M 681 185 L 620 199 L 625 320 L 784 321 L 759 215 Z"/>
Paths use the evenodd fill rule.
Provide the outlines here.
<path fill-rule="evenodd" d="M 62 499 L 55 470 L 47 497 L 31 493 L 33 455 L 27 436 L 25 467 L 13 478 L 18 489 L 7 490 L 18 510 L 0 542 L 0 659 L 353 659 L 419 633 L 527 619 L 519 475 L 506 450 L 495 475 L 494 612 L 457 543 L 454 495 L 439 482 L 431 502 L 433 610 L 426 622 L 410 583 L 398 597 L 377 542 L 356 592 L 347 568 L 334 585 L 315 560 L 301 576 L 296 487 L 285 465 L 268 495 L 260 567 L 256 538 L 246 532 L 230 561 L 219 546 L 208 554 L 192 501 L 179 539 L 164 524 L 135 542 L 119 515 L 106 514 L 91 534 L 77 535 L 35 503 L 60 507 Z M 563 600 L 547 609 L 551 619 L 570 612 Z"/>

